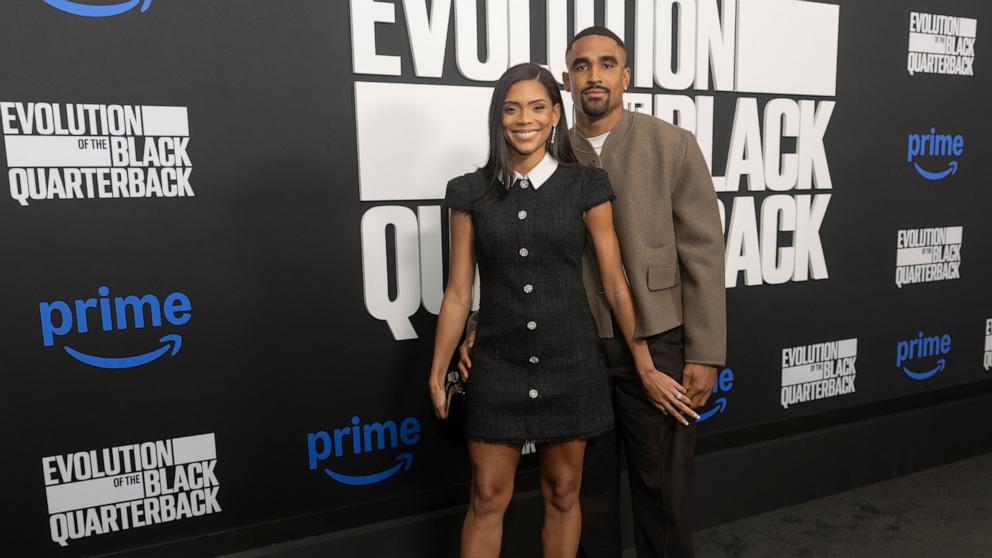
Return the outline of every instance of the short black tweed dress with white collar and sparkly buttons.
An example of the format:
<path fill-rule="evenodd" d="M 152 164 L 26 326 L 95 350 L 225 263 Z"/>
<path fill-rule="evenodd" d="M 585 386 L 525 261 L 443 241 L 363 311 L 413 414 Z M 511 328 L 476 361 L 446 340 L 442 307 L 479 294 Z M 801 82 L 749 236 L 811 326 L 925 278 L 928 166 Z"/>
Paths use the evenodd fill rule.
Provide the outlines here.
<path fill-rule="evenodd" d="M 559 164 L 537 190 L 518 180 L 500 199 L 488 188 L 476 171 L 451 180 L 444 198 L 472 216 L 481 283 L 466 436 L 519 444 L 607 431 L 613 411 L 582 284 L 582 214 L 615 198 L 609 178 Z"/>

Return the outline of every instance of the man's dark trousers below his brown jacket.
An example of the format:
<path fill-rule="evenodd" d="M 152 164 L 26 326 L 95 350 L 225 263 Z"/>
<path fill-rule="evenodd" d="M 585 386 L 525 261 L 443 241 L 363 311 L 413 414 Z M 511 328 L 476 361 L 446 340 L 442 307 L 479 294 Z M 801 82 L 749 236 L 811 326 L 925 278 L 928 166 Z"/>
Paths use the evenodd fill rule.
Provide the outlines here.
<path fill-rule="evenodd" d="M 682 381 L 682 328 L 648 338 L 655 368 Z M 637 558 L 693 556 L 689 478 L 696 426 L 648 400 L 622 339 L 603 340 L 616 430 L 589 440 L 582 474 L 581 558 L 620 558 L 620 451 L 626 455 Z"/>

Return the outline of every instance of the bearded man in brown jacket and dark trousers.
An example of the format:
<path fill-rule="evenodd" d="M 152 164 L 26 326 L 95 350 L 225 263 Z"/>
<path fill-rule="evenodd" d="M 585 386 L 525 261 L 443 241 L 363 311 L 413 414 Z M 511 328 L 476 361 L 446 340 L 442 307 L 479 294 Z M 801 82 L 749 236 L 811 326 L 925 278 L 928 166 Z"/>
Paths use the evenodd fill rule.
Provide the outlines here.
<path fill-rule="evenodd" d="M 712 180 L 691 133 L 624 110 L 630 68 L 605 27 L 578 33 L 566 53 L 570 133 L 579 162 L 604 168 L 616 191 L 614 224 L 637 311 L 635 334 L 655 368 L 706 404 L 726 353 L 724 246 Z M 616 430 L 589 441 L 582 484 L 587 558 L 619 557 L 619 450 L 627 457 L 638 558 L 692 556 L 688 490 L 696 427 L 658 393 L 658 372 L 638 373 L 613 323 L 587 247 L 584 283 L 610 369 Z M 471 365 L 470 335 L 460 367 Z M 466 371 L 463 370 L 463 373 Z M 666 408 L 668 410 L 666 410 Z M 675 415 L 675 416 L 673 416 Z"/>

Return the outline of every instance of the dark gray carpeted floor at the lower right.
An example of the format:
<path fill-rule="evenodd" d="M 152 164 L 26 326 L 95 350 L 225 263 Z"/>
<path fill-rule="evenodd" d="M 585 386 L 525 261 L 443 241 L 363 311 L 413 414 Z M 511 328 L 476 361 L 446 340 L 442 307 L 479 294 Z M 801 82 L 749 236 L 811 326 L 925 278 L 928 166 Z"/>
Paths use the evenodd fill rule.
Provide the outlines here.
<path fill-rule="evenodd" d="M 992 454 L 696 533 L 699 558 L 992 557 Z"/>

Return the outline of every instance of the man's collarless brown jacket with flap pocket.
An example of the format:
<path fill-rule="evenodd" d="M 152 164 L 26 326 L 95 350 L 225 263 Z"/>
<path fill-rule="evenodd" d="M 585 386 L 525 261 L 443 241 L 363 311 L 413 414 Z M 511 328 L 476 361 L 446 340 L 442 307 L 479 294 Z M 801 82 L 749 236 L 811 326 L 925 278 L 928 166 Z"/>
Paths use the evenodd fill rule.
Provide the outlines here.
<path fill-rule="evenodd" d="M 625 111 L 598 157 L 576 128 L 580 163 L 602 167 L 616 191 L 613 220 L 634 295 L 637 337 L 683 326 L 685 361 L 726 359 L 724 246 L 713 181 L 695 137 L 653 116 Z M 613 337 L 591 243 L 583 282 L 600 337 Z"/>

